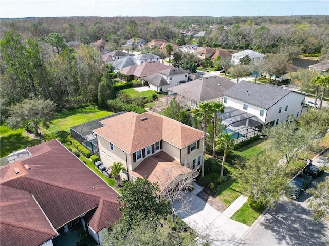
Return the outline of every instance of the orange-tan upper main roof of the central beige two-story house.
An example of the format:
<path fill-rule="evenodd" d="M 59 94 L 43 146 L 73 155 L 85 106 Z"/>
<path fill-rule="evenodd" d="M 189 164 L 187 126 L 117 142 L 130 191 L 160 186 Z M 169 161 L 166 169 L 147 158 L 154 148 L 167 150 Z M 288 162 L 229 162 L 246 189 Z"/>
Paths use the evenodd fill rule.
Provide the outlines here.
<path fill-rule="evenodd" d="M 93 131 L 129 154 L 160 140 L 183 149 L 203 138 L 203 131 L 154 112 L 130 114 L 126 118 L 123 115 L 102 121 L 106 126 Z M 145 117 L 147 120 L 142 121 Z"/>

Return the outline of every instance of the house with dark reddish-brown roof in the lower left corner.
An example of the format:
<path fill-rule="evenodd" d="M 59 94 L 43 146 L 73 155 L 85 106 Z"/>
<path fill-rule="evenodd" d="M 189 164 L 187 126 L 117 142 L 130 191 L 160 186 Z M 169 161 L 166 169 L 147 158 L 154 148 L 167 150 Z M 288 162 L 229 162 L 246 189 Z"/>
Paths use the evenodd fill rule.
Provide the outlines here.
<path fill-rule="evenodd" d="M 54 245 L 78 224 L 101 243 L 121 217 L 118 193 L 59 141 L 0 167 L 0 245 Z"/>

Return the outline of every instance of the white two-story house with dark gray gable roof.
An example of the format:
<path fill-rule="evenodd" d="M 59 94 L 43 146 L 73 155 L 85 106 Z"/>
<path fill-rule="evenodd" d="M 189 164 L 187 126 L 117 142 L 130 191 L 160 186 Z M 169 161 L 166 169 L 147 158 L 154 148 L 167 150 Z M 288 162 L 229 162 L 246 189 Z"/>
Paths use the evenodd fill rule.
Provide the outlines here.
<path fill-rule="evenodd" d="M 288 116 L 298 118 L 305 94 L 269 84 L 241 81 L 223 93 L 223 104 L 257 116 L 266 125 L 276 126 Z"/>

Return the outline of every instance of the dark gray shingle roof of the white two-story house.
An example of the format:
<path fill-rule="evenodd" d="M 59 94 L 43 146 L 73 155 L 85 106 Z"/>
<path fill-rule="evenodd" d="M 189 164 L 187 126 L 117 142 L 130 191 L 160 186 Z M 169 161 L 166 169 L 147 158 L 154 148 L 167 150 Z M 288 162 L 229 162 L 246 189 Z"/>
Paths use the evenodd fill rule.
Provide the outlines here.
<path fill-rule="evenodd" d="M 289 91 L 279 86 L 268 84 L 260 85 L 242 80 L 235 86 L 225 91 L 223 95 L 268 109 L 289 93 L 298 92 Z"/>

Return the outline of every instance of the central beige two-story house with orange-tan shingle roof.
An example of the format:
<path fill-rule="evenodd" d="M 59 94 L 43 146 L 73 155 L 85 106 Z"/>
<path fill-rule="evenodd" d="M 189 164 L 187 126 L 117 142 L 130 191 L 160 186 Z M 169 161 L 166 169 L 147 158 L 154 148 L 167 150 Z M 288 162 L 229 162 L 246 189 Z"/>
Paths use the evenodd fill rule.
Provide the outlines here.
<path fill-rule="evenodd" d="M 154 112 L 127 112 L 101 121 L 93 130 L 102 163 L 111 168 L 121 162 L 121 177 L 172 183 L 202 163 L 203 132 Z M 191 168 L 191 169 L 189 169 Z M 166 187 L 161 187 L 163 191 Z"/>

